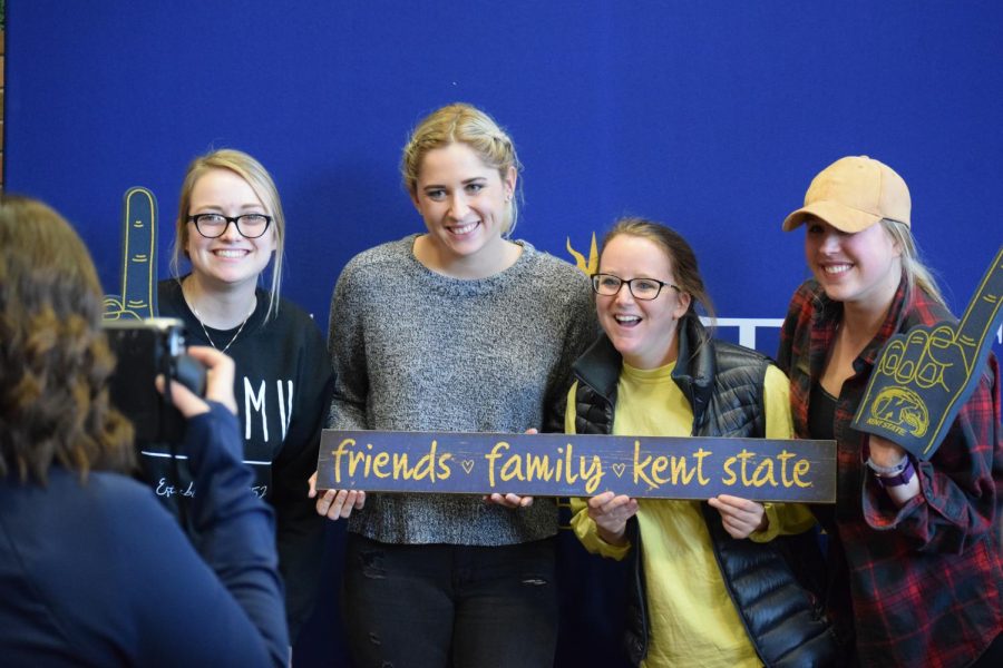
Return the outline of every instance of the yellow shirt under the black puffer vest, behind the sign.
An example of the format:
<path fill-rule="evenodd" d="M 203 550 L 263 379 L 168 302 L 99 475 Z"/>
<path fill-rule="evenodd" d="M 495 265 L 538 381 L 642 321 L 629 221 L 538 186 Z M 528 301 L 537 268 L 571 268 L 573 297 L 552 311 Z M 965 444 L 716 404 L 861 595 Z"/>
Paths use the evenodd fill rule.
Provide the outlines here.
<path fill-rule="evenodd" d="M 689 436 L 693 412 L 672 381 L 675 363 L 652 370 L 623 365 L 617 384 L 613 433 L 636 436 Z M 565 431 L 574 433 L 577 383 L 568 394 Z M 789 439 L 789 383 L 776 366 L 763 382 L 769 439 Z M 615 490 L 614 490 L 615 491 Z M 752 540 L 799 532 L 815 520 L 798 504 L 766 504 L 769 529 Z M 572 499 L 572 527 L 591 551 L 622 559 L 630 546 L 602 540 L 585 502 Z M 647 589 L 651 644 L 644 666 L 746 668 L 761 666 L 734 605 L 724 589 L 699 501 L 639 500 L 637 522 L 644 537 L 641 559 Z"/>

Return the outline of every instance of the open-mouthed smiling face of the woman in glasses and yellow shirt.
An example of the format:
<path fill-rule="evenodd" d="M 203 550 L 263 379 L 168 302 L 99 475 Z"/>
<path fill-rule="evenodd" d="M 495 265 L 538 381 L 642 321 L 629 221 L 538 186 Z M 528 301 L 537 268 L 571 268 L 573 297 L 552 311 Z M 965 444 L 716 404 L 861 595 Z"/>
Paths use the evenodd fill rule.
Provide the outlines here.
<path fill-rule="evenodd" d="M 621 234 L 606 242 L 598 273 L 624 281 L 654 278 L 678 284 L 669 254 L 651 239 Z M 655 369 L 675 360 L 679 318 L 690 295 L 664 286 L 654 299 L 635 298 L 627 286 L 613 296 L 596 295 L 600 324 L 624 361 L 636 369 Z"/>

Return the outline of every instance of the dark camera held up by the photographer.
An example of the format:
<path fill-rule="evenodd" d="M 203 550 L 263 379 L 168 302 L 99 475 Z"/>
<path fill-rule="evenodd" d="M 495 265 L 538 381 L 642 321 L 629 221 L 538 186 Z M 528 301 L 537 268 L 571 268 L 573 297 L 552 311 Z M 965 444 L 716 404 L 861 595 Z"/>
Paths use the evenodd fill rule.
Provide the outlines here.
<path fill-rule="evenodd" d="M 185 419 L 160 395 L 163 375 L 205 395 L 205 366 L 185 353 L 184 323 L 177 318 L 105 321 L 108 345 L 118 360 L 108 390 L 113 405 L 133 422 L 137 443 L 179 443 Z"/>

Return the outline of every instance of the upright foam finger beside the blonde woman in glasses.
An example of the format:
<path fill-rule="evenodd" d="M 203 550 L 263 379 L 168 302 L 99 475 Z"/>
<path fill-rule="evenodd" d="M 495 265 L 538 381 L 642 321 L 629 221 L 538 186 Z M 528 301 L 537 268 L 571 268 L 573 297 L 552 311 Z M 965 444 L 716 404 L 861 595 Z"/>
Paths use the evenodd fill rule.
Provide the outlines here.
<path fill-rule="evenodd" d="M 157 315 L 157 199 L 126 190 L 121 205 L 121 295 L 105 295 L 106 321 Z"/>

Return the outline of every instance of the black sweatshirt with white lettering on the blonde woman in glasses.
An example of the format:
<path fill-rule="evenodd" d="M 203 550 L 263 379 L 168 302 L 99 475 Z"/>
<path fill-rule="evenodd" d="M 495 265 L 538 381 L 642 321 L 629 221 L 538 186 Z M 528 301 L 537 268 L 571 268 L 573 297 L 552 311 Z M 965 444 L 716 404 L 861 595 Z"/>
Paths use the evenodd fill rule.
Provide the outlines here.
<path fill-rule="evenodd" d="M 158 285 L 163 317 L 185 323 L 188 345 L 211 345 L 176 279 Z M 308 479 L 317 469 L 320 433 L 333 390 L 327 344 L 313 320 L 299 306 L 281 299 L 277 314 L 265 322 L 269 293 L 259 288 L 257 306 L 243 330 L 206 327 L 236 365 L 236 395 L 244 462 L 255 474 L 252 490 L 275 510 L 279 566 L 286 584 L 290 637 L 295 640 L 317 590 L 323 550 L 323 521 L 306 497 Z M 236 338 L 234 338 L 236 336 Z M 174 462 L 166 444 L 140 446 L 144 475 L 175 513 L 186 495 L 198 493 L 184 460 Z M 194 540 L 197 537 L 193 536 Z"/>

